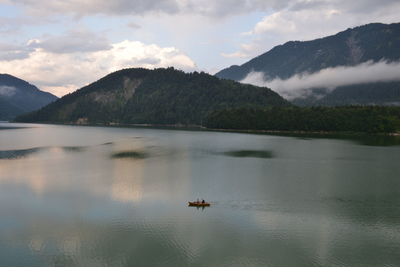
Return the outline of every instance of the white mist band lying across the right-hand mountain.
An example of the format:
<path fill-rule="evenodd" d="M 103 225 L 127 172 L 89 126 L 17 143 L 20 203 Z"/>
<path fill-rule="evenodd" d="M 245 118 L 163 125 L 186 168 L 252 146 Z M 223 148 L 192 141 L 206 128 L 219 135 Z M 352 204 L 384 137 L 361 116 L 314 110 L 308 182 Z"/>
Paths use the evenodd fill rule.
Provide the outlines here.
<path fill-rule="evenodd" d="M 241 82 L 269 87 L 291 100 L 308 96 L 311 94 L 310 89 L 314 88 L 333 90 L 344 85 L 389 81 L 400 81 L 400 62 L 368 61 L 357 66 L 340 66 L 312 74 L 296 74 L 285 80 L 265 80 L 263 73 L 251 72 Z"/>

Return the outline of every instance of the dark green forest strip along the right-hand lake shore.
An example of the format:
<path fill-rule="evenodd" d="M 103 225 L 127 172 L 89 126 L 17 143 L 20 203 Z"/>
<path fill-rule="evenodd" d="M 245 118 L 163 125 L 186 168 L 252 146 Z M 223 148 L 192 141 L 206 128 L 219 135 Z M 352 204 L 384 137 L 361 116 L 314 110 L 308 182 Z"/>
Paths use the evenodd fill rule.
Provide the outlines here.
<path fill-rule="evenodd" d="M 394 133 L 400 107 L 268 107 L 210 113 L 207 128 L 232 130 Z"/>

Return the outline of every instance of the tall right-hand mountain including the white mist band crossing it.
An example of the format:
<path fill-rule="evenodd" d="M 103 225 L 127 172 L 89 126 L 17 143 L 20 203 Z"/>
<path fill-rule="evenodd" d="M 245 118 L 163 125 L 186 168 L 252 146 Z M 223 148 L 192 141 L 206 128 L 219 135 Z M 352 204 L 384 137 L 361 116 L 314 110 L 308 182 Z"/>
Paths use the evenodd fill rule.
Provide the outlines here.
<path fill-rule="evenodd" d="M 307 105 L 347 105 L 365 99 L 369 104 L 398 103 L 399 97 L 388 102 L 387 96 L 396 97 L 399 93 L 393 90 L 400 91 L 399 47 L 400 23 L 373 23 L 312 41 L 287 42 L 216 76 L 268 86 Z M 336 100 L 330 102 L 333 93 L 341 95 L 340 101 L 333 97 Z"/>

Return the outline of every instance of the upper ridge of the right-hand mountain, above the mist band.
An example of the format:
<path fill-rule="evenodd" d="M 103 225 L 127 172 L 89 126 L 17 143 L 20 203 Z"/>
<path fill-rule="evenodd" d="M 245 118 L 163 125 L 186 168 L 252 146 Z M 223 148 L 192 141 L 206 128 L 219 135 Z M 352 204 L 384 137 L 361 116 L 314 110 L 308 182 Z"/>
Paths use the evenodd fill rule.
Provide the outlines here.
<path fill-rule="evenodd" d="M 241 66 L 231 66 L 215 76 L 243 80 L 252 71 L 269 78 L 287 79 L 297 73 L 355 66 L 369 60 L 400 59 L 400 23 L 372 23 L 312 41 L 290 41 L 255 57 Z"/>

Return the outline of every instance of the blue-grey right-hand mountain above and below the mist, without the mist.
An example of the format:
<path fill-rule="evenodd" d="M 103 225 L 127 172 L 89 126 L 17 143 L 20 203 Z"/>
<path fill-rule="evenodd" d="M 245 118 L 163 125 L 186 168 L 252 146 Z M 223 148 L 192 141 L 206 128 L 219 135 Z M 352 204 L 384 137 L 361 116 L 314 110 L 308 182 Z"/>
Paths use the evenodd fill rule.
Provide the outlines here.
<path fill-rule="evenodd" d="M 296 74 L 312 74 L 326 68 L 357 66 L 365 62 L 398 62 L 400 60 L 399 47 L 400 23 L 373 23 L 312 41 L 287 42 L 241 66 L 231 66 L 215 75 L 220 78 L 241 81 L 251 72 L 261 72 L 265 80 L 275 78 L 285 80 Z M 338 77 L 338 79 L 341 78 Z M 365 103 L 365 98 L 368 96 L 363 95 L 363 88 L 366 88 L 369 96 L 374 96 L 368 99 L 368 103 L 385 104 L 386 96 L 390 94 L 387 90 L 393 91 L 393 88 L 395 88 L 397 98 L 391 99 L 390 102 L 399 102 L 399 85 L 400 82 L 390 85 L 385 82 L 359 83 L 342 86 L 333 91 L 314 90 L 316 94 L 306 99 L 295 99 L 294 102 L 302 102 L 307 105 Z M 330 96 L 330 94 L 335 95 Z M 338 95 L 340 95 L 340 101 L 338 101 Z M 325 99 L 322 100 L 322 98 Z M 334 99 L 334 101 L 330 102 L 330 99 Z"/>

